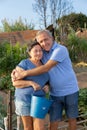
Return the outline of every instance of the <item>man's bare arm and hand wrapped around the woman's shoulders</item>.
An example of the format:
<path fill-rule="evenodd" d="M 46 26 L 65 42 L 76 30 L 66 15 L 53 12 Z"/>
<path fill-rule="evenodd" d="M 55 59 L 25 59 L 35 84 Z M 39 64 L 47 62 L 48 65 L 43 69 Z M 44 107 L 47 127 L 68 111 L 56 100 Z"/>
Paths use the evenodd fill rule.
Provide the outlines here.
<path fill-rule="evenodd" d="M 26 71 L 24 70 L 24 71 L 21 71 L 21 73 L 16 71 L 15 72 L 15 80 L 22 79 L 26 76 L 34 76 L 34 75 L 39 75 L 39 74 L 48 72 L 56 64 L 58 64 L 57 61 L 49 60 L 46 64 L 41 65 L 39 67 L 36 67 L 34 69 L 26 70 Z"/>

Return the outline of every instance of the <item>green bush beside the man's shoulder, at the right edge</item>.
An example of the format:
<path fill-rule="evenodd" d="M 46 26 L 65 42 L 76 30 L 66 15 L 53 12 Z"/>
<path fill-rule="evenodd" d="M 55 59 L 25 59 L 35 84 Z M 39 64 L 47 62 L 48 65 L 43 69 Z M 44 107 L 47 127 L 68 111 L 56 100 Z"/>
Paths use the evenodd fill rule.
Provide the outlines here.
<path fill-rule="evenodd" d="M 67 38 L 67 47 L 72 62 L 87 62 L 87 40 L 79 38 L 75 33 L 71 33 Z"/>

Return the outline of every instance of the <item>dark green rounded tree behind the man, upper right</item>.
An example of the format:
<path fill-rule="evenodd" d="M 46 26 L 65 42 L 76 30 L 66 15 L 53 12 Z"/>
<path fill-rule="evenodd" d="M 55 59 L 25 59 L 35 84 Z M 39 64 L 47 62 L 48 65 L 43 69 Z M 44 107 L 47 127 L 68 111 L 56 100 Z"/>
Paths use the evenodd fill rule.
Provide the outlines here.
<path fill-rule="evenodd" d="M 86 28 L 87 16 L 79 13 L 64 15 L 57 20 L 58 29 L 56 29 L 57 40 L 65 43 L 69 33 L 76 32 L 78 29 Z"/>

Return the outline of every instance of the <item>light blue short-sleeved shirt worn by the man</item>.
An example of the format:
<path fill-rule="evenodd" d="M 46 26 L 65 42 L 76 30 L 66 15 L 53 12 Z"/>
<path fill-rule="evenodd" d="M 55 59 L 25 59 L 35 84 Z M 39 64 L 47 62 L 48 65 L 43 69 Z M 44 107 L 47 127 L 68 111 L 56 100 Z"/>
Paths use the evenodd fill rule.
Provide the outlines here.
<path fill-rule="evenodd" d="M 79 90 L 67 48 L 54 42 L 49 52 L 44 51 L 42 62 L 57 61 L 58 64 L 49 71 L 50 94 L 65 96 Z"/>

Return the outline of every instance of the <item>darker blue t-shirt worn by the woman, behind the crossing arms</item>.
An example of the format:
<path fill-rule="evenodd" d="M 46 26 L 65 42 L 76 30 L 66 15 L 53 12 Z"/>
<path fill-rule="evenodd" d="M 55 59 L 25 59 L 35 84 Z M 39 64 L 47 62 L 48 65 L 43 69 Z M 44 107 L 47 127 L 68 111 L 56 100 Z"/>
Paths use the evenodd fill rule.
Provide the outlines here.
<path fill-rule="evenodd" d="M 24 59 L 19 64 L 19 67 L 23 68 L 24 70 L 29 70 L 36 68 L 36 66 L 29 60 Z M 24 78 L 24 80 L 32 80 L 36 83 L 38 83 L 42 88 L 49 80 L 49 74 L 44 73 L 37 76 L 27 76 Z M 45 96 L 45 92 L 41 90 L 34 91 L 32 86 L 24 87 L 24 88 L 16 88 L 15 90 L 15 96 L 18 100 L 22 101 L 30 101 L 31 95 L 38 95 L 38 96 Z"/>

